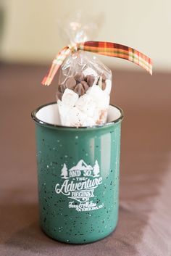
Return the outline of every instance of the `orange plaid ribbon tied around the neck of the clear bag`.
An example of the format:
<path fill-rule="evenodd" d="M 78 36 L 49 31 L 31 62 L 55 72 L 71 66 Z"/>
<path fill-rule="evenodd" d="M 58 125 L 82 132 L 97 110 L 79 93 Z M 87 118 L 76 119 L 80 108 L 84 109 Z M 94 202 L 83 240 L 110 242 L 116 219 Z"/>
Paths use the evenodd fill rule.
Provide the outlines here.
<path fill-rule="evenodd" d="M 66 59 L 68 55 L 79 50 L 90 51 L 95 54 L 101 54 L 110 57 L 127 59 L 130 62 L 133 62 L 136 65 L 143 67 L 152 75 L 151 59 L 140 51 L 137 51 L 128 46 L 124 46 L 122 44 L 99 41 L 86 41 L 79 44 L 70 44 L 69 46 L 65 46 L 61 51 L 59 51 L 59 54 L 57 54 L 57 57 L 52 62 L 48 75 L 43 78 L 42 84 L 44 86 L 49 86 L 51 84 L 51 81 L 54 79 L 54 75 L 57 73 L 57 70 L 64 62 L 64 59 Z"/>

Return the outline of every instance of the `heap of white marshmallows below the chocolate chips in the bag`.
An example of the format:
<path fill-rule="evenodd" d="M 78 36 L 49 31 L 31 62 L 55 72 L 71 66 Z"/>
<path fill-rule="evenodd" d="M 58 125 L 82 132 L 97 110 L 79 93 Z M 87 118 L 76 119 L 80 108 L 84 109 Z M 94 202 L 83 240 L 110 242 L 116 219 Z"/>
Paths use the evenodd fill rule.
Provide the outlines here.
<path fill-rule="evenodd" d="M 107 121 L 111 80 L 107 80 L 103 91 L 99 86 L 91 86 L 83 96 L 66 89 L 62 101 L 58 99 L 59 116 L 62 125 L 92 126 Z"/>

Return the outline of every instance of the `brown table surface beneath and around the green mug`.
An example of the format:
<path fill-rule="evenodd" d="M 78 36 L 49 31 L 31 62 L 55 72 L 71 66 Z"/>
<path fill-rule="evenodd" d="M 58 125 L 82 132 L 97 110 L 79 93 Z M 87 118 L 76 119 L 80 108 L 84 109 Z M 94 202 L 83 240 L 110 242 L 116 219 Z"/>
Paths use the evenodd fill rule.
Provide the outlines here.
<path fill-rule="evenodd" d="M 36 144 L 30 112 L 53 102 L 48 67 L 0 65 L 0 255 L 171 255 L 171 73 L 113 71 L 111 103 L 125 112 L 117 230 L 93 244 L 50 239 L 38 225 Z"/>

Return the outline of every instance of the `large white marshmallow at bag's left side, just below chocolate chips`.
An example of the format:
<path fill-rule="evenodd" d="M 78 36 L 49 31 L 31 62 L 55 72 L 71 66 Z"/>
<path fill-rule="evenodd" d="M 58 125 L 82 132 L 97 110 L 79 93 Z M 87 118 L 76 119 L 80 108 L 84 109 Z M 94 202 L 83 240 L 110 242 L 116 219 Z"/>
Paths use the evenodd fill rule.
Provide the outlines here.
<path fill-rule="evenodd" d="M 66 88 L 64 94 L 62 95 L 62 103 L 66 104 L 69 107 L 75 106 L 75 103 L 78 101 L 78 94 L 75 91 Z"/>

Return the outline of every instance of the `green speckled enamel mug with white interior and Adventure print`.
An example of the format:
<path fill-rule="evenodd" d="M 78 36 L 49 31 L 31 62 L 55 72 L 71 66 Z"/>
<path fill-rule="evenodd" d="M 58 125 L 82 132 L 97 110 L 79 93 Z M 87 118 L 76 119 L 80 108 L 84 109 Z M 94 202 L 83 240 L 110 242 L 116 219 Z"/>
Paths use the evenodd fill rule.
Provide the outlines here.
<path fill-rule="evenodd" d="M 60 125 L 57 103 L 32 118 L 42 230 L 70 244 L 108 236 L 118 220 L 122 110 L 110 105 L 107 123 L 91 127 Z"/>

